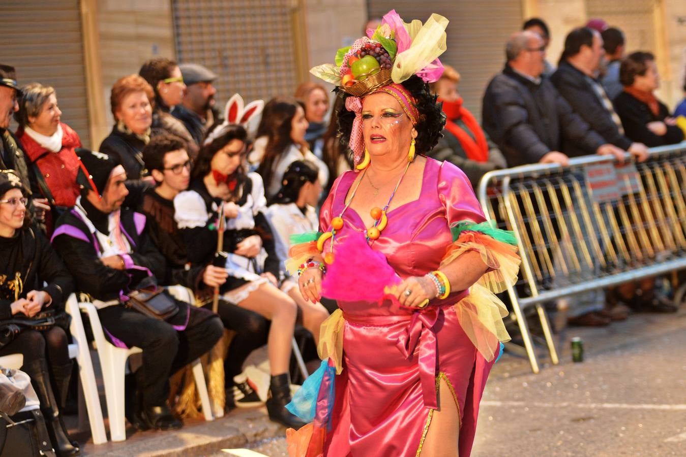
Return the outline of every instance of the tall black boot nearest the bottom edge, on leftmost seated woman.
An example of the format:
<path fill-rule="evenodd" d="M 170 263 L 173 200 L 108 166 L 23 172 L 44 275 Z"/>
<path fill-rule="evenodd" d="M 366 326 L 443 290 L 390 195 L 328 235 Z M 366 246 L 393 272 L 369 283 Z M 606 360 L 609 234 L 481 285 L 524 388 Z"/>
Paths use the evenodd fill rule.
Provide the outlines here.
<path fill-rule="evenodd" d="M 69 439 L 67 428 L 64 427 L 64 422 L 62 422 L 60 408 L 50 386 L 47 362 L 44 358 L 32 360 L 26 362 L 23 369 L 31 376 L 31 384 L 34 386 L 36 395 L 38 395 L 38 400 L 40 400 L 40 411 L 43 412 L 43 417 L 45 417 L 47 432 L 50 435 L 50 441 L 52 441 L 57 455 L 62 457 L 78 456 L 81 453 L 81 449 L 78 443 Z M 71 375 L 71 366 L 69 370 Z"/>

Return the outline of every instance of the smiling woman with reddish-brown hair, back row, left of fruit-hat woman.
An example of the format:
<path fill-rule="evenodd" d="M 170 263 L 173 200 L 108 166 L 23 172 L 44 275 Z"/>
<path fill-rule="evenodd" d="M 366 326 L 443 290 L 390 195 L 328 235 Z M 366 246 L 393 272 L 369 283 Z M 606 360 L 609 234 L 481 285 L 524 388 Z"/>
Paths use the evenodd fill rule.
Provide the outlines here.
<path fill-rule="evenodd" d="M 305 106 L 305 119 L 308 123 L 305 141 L 309 145 L 309 150 L 318 158 L 323 159 L 324 134 L 329 127 L 325 119 L 329 111 L 327 90 L 316 82 L 304 82 L 296 88 L 295 97 Z"/>

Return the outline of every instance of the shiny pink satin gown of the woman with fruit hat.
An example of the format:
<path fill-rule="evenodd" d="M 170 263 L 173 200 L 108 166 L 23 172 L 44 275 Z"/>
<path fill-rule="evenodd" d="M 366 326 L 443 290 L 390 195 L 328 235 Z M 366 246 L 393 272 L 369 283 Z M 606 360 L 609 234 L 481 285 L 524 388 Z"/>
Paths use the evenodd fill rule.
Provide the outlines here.
<path fill-rule="evenodd" d="M 333 185 L 320 214 L 320 230 L 344 208 L 355 180 L 352 171 Z M 352 231 L 364 233 L 348 208 L 336 243 Z M 388 226 L 372 245 L 403 279 L 435 270 L 453 243 L 449 225 L 485 221 L 464 173 L 450 163 L 427 159 L 421 195 L 388 212 Z M 384 301 L 339 301 L 345 319 L 343 371 L 336 376 L 332 430 L 325 456 L 418 456 L 436 408 L 438 380 L 453 393 L 442 408 L 458 408 L 460 455 L 468 456 L 479 402 L 493 361 L 487 362 L 462 330 L 453 305 L 466 291 L 434 299 L 423 310 Z M 456 430 L 458 433 L 458 430 Z"/>

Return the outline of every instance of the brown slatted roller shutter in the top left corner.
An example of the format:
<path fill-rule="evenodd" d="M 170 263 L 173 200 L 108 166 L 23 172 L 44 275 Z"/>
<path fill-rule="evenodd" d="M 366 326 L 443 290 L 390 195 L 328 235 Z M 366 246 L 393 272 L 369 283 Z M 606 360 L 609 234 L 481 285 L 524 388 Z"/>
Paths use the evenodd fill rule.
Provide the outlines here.
<path fill-rule="evenodd" d="M 0 2 L 0 61 L 16 68 L 19 85 L 53 86 L 62 121 L 90 144 L 78 0 Z M 16 128 L 12 125 L 10 128 Z"/>

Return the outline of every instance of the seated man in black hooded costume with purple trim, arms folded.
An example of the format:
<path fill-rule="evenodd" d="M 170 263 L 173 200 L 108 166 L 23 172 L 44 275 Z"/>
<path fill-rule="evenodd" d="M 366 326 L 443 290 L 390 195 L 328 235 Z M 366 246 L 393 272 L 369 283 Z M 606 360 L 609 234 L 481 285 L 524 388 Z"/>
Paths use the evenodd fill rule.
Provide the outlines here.
<path fill-rule="evenodd" d="M 144 230 L 145 217 L 121 209 L 128 193 L 123 166 L 103 153 L 79 149 L 78 154 L 84 189 L 72 210 L 58 219 L 52 243 L 76 278 L 77 290 L 91 296 L 110 343 L 143 349 L 134 425 L 180 428 L 182 422 L 167 406 L 169 376 L 219 341 L 222 322 L 182 301 L 176 301 L 178 312 L 167 320 L 126 306 L 127 294 L 141 280 L 165 277 L 165 258 Z"/>

